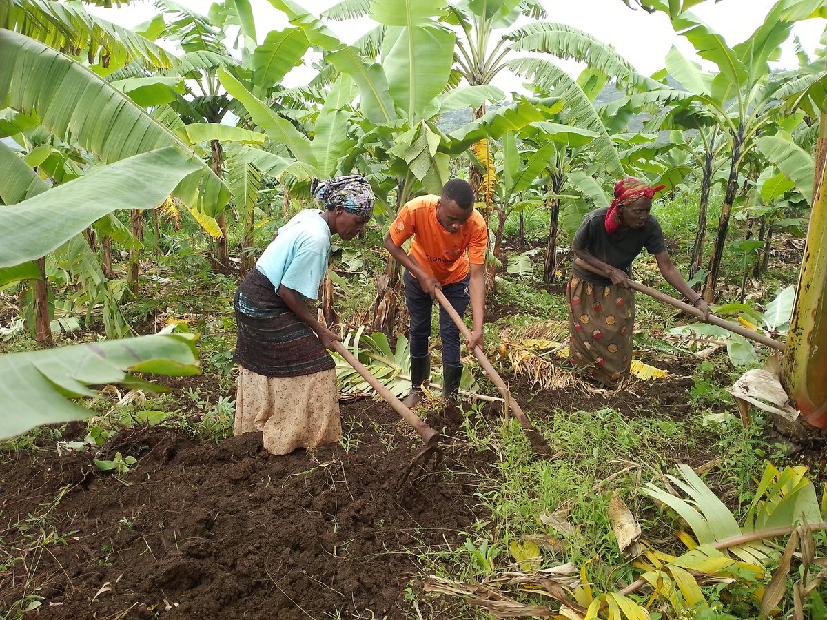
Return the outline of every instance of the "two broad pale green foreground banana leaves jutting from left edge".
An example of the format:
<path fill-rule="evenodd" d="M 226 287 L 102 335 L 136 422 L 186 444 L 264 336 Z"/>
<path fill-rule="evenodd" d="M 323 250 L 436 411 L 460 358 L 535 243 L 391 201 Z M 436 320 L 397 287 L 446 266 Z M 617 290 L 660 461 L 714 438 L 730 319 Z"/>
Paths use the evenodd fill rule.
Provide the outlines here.
<path fill-rule="evenodd" d="M 25 269 L 114 209 L 155 207 L 201 166 L 192 153 L 166 146 L 99 165 L 45 191 L 31 174 L 9 174 L 2 184 L 3 202 L 11 204 L 0 209 L 0 270 Z M 167 334 L 0 355 L 7 378 L 0 396 L 10 403 L 0 415 L 0 437 L 88 417 L 92 410 L 67 400 L 93 395 L 88 385 L 146 385 L 134 376 L 143 372 L 198 374 L 194 340 L 189 334 Z"/>

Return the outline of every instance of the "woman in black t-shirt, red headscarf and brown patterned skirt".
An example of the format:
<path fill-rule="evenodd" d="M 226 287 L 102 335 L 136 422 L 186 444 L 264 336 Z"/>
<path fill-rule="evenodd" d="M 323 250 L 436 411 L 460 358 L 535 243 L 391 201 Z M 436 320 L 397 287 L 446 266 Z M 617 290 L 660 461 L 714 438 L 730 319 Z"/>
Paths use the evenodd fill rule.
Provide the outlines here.
<path fill-rule="evenodd" d="M 566 286 L 571 363 L 609 387 L 629 374 L 632 365 L 634 293 L 627 278 L 644 247 L 669 284 L 696 308 L 710 312 L 672 265 L 661 226 L 650 213 L 652 197 L 662 188 L 632 178 L 618 181 L 611 206 L 590 212 L 571 244 L 578 259 L 604 274 L 575 264 Z"/>

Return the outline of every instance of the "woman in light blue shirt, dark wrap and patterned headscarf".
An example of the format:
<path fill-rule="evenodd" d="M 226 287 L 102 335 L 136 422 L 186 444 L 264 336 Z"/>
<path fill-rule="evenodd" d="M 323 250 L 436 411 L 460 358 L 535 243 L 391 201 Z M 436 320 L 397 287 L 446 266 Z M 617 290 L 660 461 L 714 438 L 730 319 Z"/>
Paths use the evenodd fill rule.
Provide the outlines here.
<path fill-rule="evenodd" d="M 358 175 L 313 187 L 324 210 L 305 209 L 276 233 L 235 298 L 239 364 L 233 434 L 262 432 L 265 449 L 288 454 L 342 435 L 336 371 L 327 348 L 338 336 L 306 300 L 318 298 L 333 235 L 349 241 L 373 214 Z"/>

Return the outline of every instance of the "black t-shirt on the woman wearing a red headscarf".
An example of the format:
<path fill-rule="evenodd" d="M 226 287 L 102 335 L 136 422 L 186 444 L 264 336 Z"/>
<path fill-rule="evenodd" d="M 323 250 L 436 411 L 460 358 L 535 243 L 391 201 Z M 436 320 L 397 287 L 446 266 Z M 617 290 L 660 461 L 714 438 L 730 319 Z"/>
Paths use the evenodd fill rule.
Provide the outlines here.
<path fill-rule="evenodd" d="M 590 212 L 574 236 L 574 242 L 595 255 L 596 258 L 607 265 L 623 269 L 626 274 L 631 275 L 632 261 L 644 247 L 652 255 L 660 254 L 667 249 L 667 241 L 663 238 L 661 225 L 653 215 L 649 215 L 643 227 L 629 229 L 623 238 L 619 238 L 616 232 L 611 235 L 606 232 L 605 219 L 608 211 L 608 207 L 602 207 Z M 576 266 L 574 273 L 578 278 L 595 284 L 611 284 L 611 280 L 590 271 L 578 269 Z"/>

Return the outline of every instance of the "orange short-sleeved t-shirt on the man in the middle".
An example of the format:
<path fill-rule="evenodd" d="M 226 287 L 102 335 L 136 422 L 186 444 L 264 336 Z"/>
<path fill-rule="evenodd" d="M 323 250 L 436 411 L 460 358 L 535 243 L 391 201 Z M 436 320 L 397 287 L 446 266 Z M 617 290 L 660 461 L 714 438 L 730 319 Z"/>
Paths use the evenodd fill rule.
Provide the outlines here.
<path fill-rule="evenodd" d="M 465 279 L 469 265 L 485 265 L 488 228 L 474 209 L 458 232 L 448 232 L 437 220 L 438 198 L 419 196 L 405 203 L 390 225 L 390 239 L 402 246 L 413 236 L 410 255 L 439 284 L 454 284 Z"/>

